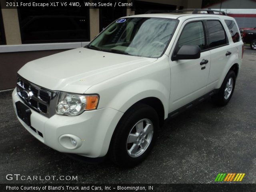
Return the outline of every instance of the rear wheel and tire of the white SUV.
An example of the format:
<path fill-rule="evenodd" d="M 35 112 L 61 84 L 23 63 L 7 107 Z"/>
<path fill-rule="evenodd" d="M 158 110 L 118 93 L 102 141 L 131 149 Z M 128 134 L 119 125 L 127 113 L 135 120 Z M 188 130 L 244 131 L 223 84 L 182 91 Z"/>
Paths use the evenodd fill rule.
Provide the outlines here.
<path fill-rule="evenodd" d="M 214 104 L 218 106 L 225 106 L 226 104 L 228 104 L 234 92 L 235 85 L 236 74 L 233 70 L 230 70 L 224 78 L 219 92 L 212 96 L 212 101 L 214 102 Z"/>

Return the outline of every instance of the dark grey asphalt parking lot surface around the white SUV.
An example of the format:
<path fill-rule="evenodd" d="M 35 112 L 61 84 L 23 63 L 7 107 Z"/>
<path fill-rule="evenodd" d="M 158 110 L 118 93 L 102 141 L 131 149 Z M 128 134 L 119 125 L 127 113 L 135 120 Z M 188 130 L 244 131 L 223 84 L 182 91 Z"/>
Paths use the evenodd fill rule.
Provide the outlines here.
<path fill-rule="evenodd" d="M 131 169 L 77 162 L 45 146 L 17 120 L 11 91 L 0 92 L 0 183 L 214 183 L 218 173 L 245 173 L 242 183 L 256 183 L 255 117 L 256 51 L 248 47 L 229 104 L 208 100 L 166 120 L 151 154 Z M 6 174 L 26 177 L 6 180 Z"/>

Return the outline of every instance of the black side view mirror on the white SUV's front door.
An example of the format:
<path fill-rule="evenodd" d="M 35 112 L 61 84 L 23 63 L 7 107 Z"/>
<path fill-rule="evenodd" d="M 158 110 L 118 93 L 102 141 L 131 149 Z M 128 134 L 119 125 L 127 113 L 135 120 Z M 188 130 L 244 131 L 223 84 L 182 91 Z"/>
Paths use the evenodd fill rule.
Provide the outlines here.
<path fill-rule="evenodd" d="M 182 59 L 198 59 L 201 55 L 201 49 L 199 46 L 195 45 L 182 45 L 178 53 L 172 56 L 172 60 L 182 60 Z"/>

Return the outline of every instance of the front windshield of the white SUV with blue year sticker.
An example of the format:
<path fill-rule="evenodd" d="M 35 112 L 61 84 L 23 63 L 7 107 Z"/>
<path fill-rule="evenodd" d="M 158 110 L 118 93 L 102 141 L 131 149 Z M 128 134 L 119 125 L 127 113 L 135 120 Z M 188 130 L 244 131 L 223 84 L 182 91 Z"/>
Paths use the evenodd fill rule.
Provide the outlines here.
<path fill-rule="evenodd" d="M 142 57 L 160 57 L 177 20 L 167 18 L 118 19 L 96 37 L 87 48 Z"/>

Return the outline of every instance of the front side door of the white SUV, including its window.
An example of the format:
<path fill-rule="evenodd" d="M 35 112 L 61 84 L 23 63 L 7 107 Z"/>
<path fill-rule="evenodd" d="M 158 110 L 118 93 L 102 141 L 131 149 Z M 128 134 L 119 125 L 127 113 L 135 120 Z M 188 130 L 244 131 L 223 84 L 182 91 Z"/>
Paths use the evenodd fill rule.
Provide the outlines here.
<path fill-rule="evenodd" d="M 206 93 L 210 71 L 210 52 L 206 50 L 204 21 L 186 20 L 171 51 L 174 55 L 182 45 L 196 45 L 201 48 L 199 59 L 176 60 L 170 58 L 171 92 L 169 112 L 172 112 Z"/>

